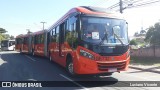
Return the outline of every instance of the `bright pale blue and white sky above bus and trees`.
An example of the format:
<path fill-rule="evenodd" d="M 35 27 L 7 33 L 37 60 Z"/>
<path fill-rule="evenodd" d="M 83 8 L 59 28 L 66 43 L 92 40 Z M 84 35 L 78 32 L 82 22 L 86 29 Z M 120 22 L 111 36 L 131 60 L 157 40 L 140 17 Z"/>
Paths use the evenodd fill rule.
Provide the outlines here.
<path fill-rule="evenodd" d="M 77 6 L 109 7 L 119 0 L 0 0 L 0 28 L 17 36 L 27 30 L 35 32 L 54 24 L 67 11 Z M 124 10 L 129 23 L 129 36 L 160 21 L 160 4 Z"/>

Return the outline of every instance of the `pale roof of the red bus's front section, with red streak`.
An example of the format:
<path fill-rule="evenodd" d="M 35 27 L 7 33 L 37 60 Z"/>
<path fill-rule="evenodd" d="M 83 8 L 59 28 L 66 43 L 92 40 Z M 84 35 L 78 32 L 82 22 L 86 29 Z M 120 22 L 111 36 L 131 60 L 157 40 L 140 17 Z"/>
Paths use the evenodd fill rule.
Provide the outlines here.
<path fill-rule="evenodd" d="M 70 14 L 72 13 L 83 13 L 83 14 L 88 14 L 88 15 L 101 15 L 109 18 L 118 18 L 118 19 L 123 19 L 122 14 L 113 12 L 111 10 L 108 10 L 106 8 L 100 8 L 100 7 L 92 7 L 92 6 L 79 6 L 72 8 L 69 10 L 63 17 L 61 17 L 55 24 L 53 24 L 48 30 L 52 29 L 53 27 L 56 27 L 57 25 L 61 24 L 64 22 Z"/>

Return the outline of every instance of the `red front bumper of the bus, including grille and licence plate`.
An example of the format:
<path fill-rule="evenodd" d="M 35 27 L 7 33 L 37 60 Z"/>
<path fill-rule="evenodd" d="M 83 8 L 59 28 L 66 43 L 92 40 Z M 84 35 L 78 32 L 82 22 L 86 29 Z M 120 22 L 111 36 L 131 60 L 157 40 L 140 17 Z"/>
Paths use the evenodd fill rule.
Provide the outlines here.
<path fill-rule="evenodd" d="M 103 74 L 125 71 L 128 69 L 130 57 L 126 60 L 118 61 L 94 61 L 80 58 L 75 63 L 74 69 L 76 74 Z"/>

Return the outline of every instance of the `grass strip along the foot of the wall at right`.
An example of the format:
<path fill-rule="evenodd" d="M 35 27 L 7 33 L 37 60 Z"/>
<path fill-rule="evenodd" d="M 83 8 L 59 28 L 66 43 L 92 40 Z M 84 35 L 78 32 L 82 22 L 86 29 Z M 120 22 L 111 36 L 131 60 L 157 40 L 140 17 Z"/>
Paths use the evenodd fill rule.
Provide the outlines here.
<path fill-rule="evenodd" d="M 160 66 L 160 58 L 156 57 L 131 57 L 130 64 L 145 66 Z"/>

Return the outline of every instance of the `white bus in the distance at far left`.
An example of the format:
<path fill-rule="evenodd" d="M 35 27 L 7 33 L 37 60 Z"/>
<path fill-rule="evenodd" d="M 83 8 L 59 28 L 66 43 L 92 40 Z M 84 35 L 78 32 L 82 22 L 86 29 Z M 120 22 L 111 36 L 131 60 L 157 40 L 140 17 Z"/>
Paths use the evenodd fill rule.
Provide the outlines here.
<path fill-rule="evenodd" d="M 15 40 L 2 40 L 1 41 L 1 50 L 8 51 L 8 50 L 15 50 Z"/>

